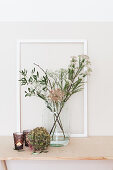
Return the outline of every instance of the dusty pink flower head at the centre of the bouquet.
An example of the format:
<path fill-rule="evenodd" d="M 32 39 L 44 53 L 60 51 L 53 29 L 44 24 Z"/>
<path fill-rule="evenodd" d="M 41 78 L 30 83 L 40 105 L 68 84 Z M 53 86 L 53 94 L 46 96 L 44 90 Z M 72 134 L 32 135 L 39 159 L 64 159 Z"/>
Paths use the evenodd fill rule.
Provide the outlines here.
<path fill-rule="evenodd" d="M 63 100 L 64 92 L 61 89 L 54 89 L 50 91 L 48 96 L 53 102 L 59 102 Z"/>

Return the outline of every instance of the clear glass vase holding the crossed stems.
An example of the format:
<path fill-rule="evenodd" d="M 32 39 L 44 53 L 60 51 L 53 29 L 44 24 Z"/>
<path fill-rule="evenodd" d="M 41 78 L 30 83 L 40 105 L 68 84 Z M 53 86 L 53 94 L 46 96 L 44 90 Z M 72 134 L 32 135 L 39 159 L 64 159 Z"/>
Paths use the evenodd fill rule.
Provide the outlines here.
<path fill-rule="evenodd" d="M 43 116 L 43 126 L 51 136 L 50 146 L 61 147 L 69 143 L 70 121 L 65 111 L 46 112 Z"/>

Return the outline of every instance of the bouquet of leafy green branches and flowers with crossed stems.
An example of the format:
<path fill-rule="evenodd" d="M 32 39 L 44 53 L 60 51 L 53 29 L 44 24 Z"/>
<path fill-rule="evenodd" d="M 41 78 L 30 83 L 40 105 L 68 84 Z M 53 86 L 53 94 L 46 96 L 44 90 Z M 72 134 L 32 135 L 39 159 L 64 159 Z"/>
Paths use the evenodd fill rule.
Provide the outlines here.
<path fill-rule="evenodd" d="M 91 72 L 90 61 L 87 55 L 71 57 L 67 69 L 56 71 L 44 70 L 40 65 L 34 63 L 30 74 L 27 70 L 21 70 L 21 85 L 27 86 L 25 97 L 36 96 L 46 102 L 47 108 L 54 113 L 54 123 L 50 130 L 50 135 L 54 135 L 56 123 L 59 124 L 63 136 L 65 132 L 60 119 L 61 111 L 69 98 L 83 90 L 85 77 Z M 38 69 L 43 73 L 40 76 Z"/>

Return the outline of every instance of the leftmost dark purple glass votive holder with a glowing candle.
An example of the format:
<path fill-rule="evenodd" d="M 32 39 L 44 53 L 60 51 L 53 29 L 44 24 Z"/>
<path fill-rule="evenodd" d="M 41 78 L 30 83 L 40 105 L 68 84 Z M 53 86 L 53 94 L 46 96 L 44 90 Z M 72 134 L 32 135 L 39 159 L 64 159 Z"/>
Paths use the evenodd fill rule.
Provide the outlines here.
<path fill-rule="evenodd" d="M 23 149 L 24 135 L 21 132 L 13 133 L 15 150 Z"/>

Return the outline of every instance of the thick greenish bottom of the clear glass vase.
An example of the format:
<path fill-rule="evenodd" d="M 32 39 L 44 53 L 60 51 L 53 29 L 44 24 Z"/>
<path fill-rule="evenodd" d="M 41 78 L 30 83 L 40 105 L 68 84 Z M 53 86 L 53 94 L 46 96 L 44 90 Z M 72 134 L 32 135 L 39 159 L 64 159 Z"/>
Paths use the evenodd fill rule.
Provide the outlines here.
<path fill-rule="evenodd" d="M 55 136 L 51 138 L 50 146 L 52 147 L 62 147 L 69 143 L 69 137 Z"/>

